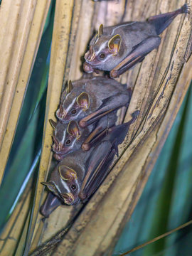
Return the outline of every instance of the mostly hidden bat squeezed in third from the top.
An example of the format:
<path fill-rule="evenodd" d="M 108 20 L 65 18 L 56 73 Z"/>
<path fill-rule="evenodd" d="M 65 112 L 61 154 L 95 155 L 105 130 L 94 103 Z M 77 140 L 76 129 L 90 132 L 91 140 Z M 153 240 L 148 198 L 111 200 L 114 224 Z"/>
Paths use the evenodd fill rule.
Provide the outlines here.
<path fill-rule="evenodd" d="M 50 119 L 50 123 L 55 129 L 53 135 L 52 149 L 55 152 L 53 155 L 56 160 L 61 161 L 64 156 L 73 151 L 89 150 L 92 144 L 100 138 L 100 133 L 107 127 L 114 126 L 117 121 L 117 111 L 107 114 L 95 124 L 91 124 L 84 129 L 79 127 L 78 122 L 71 120 L 69 123 L 55 123 Z"/>

